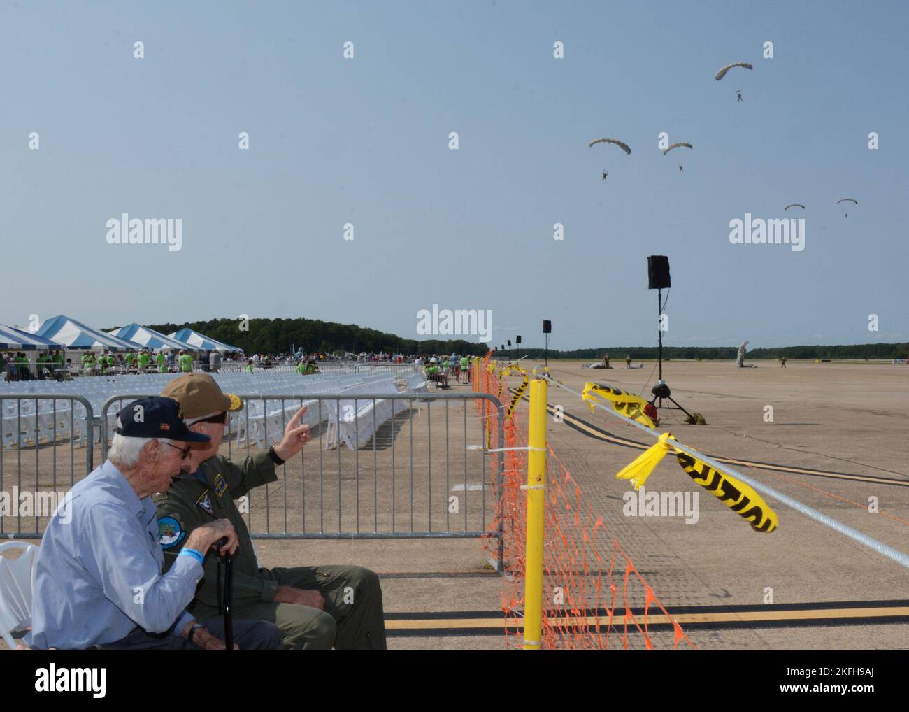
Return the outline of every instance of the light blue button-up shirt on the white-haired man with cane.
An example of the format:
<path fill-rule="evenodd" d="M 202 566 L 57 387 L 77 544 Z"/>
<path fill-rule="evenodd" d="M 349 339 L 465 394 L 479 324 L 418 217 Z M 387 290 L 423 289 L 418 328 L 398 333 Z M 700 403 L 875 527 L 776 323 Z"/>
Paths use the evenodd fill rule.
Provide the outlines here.
<path fill-rule="evenodd" d="M 107 460 L 70 491 L 68 510 L 51 517 L 35 559 L 31 645 L 85 648 L 120 640 L 136 626 L 149 633 L 193 617 L 185 607 L 204 570 L 177 557 L 162 574 L 155 504 L 139 499 Z"/>

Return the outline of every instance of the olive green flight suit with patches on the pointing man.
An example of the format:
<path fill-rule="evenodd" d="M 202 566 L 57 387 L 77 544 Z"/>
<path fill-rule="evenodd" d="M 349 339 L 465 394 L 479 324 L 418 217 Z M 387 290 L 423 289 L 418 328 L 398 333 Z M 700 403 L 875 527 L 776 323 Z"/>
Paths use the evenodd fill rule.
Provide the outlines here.
<path fill-rule="evenodd" d="M 276 480 L 275 464 L 267 451 L 248 456 L 240 464 L 224 456 L 210 457 L 198 472 L 179 476 L 166 494 L 155 495 L 158 524 L 167 530 L 168 538 L 176 537 L 162 545 L 165 567 L 174 564 L 196 526 L 226 517 L 239 539 L 234 555 L 235 617 L 274 623 L 281 628 L 287 649 L 385 649 L 382 589 L 372 571 L 335 566 L 259 567 L 252 538 L 234 499 Z M 206 556 L 204 567 L 205 577 L 187 607 L 199 620 L 221 616 L 217 557 Z M 325 598 L 325 611 L 276 602 L 279 586 L 318 590 Z"/>

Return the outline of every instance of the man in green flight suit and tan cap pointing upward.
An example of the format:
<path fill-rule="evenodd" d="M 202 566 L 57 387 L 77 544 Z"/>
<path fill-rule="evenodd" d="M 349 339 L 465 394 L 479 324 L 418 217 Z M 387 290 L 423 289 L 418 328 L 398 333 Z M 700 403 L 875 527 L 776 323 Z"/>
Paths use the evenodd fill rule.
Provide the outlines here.
<path fill-rule="evenodd" d="M 252 488 L 275 482 L 275 466 L 303 449 L 309 426 L 299 425 L 305 407 L 291 418 L 281 442 L 234 463 L 217 454 L 227 414 L 243 407 L 225 395 L 212 376 L 190 373 L 171 381 L 163 392 L 183 408 L 186 425 L 211 437 L 194 447 L 190 472 L 179 476 L 168 492 L 155 496 L 158 521 L 176 525 L 188 537 L 197 526 L 220 517 L 234 525 L 240 547 L 234 556 L 234 615 L 275 623 L 289 649 L 385 649 L 385 617 L 379 577 L 363 567 L 315 566 L 260 568 L 253 542 L 235 499 Z M 170 567 L 185 537 L 165 549 Z M 187 607 L 199 620 L 218 612 L 218 567 L 205 562 L 205 578 Z"/>

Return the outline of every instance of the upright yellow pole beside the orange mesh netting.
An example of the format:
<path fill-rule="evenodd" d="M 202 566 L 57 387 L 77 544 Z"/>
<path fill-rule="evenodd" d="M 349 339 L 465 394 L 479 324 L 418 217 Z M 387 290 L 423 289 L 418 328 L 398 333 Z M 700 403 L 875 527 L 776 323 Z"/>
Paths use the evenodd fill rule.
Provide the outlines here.
<path fill-rule="evenodd" d="M 546 382 L 530 383 L 527 437 L 527 552 L 524 577 L 524 650 L 539 650 L 543 628 L 543 535 L 546 501 Z"/>

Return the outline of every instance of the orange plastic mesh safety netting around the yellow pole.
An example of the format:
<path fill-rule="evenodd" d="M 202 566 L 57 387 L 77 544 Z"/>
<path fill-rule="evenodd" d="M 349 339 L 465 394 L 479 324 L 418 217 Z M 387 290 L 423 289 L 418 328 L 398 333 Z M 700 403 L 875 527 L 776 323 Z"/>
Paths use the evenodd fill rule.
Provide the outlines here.
<path fill-rule="evenodd" d="M 505 409 L 513 395 L 498 369 L 490 373 L 489 356 L 480 365 L 474 390 L 500 393 Z M 486 406 L 479 406 L 483 415 Z M 491 442 L 497 442 L 493 409 L 487 408 Z M 496 445 L 493 445 L 495 447 Z M 524 412 L 514 410 L 504 425 L 504 446 L 527 446 Z M 544 648 L 647 648 L 679 647 L 682 627 L 666 611 L 654 589 L 634 567 L 602 517 L 594 513 L 580 486 L 549 446 L 546 473 L 544 534 L 543 631 Z M 502 607 L 508 647 L 523 642 L 524 576 L 526 547 L 527 451 L 506 450 L 502 506 L 490 526 L 504 529 L 505 585 Z M 495 492 L 496 498 L 499 492 Z M 498 541 L 486 539 L 495 554 Z"/>

